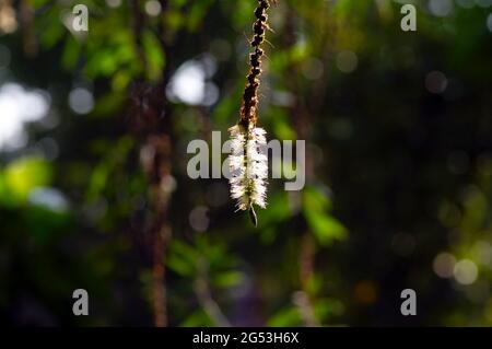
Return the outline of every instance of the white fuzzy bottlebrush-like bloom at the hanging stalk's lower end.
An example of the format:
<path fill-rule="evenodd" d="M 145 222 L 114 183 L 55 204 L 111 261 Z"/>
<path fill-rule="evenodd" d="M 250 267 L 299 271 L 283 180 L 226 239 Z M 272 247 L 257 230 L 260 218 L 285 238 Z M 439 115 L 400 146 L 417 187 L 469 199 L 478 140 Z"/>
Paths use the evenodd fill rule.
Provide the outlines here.
<path fill-rule="evenodd" d="M 247 210 L 251 205 L 266 207 L 268 156 L 266 154 L 266 131 L 262 128 L 246 130 L 236 125 L 231 132 L 231 197 L 237 200 L 238 210 Z"/>

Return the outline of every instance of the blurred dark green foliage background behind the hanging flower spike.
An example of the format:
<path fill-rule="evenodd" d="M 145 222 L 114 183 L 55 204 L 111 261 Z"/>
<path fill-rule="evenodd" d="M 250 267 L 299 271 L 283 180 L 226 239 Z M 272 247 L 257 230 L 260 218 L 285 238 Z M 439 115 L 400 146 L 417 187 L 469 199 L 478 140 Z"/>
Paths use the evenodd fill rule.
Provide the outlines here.
<path fill-rule="evenodd" d="M 238 118 L 255 5 L 0 1 L 2 323 L 152 325 L 164 286 L 173 326 L 492 325 L 492 1 L 279 0 L 259 125 L 307 181 L 258 229 L 186 174 Z"/>

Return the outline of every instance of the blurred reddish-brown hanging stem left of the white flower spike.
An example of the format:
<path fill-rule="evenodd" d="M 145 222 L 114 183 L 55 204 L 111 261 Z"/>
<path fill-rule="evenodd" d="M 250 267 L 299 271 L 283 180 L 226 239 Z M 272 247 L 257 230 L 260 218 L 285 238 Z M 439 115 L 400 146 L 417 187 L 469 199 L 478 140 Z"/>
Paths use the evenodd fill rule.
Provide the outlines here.
<path fill-rule="evenodd" d="M 163 13 L 167 5 L 163 5 Z M 137 56 L 143 65 L 147 75 L 147 58 L 142 48 L 141 35 L 144 28 L 144 16 L 138 0 L 132 1 L 133 35 Z M 161 34 L 162 51 L 166 58 L 160 81 L 150 85 L 147 82 L 136 82 L 133 103 L 137 106 L 138 125 L 145 135 L 144 144 L 140 151 L 142 167 L 150 184 L 150 254 L 152 264 L 152 311 L 154 325 L 165 327 L 168 325 L 167 293 L 165 283 L 165 260 L 172 236 L 169 223 L 169 206 L 172 191 L 175 188 L 175 178 L 172 176 L 172 121 L 171 107 L 166 101 L 165 86 L 169 79 L 169 49 L 164 44 L 165 27 L 159 28 Z"/>

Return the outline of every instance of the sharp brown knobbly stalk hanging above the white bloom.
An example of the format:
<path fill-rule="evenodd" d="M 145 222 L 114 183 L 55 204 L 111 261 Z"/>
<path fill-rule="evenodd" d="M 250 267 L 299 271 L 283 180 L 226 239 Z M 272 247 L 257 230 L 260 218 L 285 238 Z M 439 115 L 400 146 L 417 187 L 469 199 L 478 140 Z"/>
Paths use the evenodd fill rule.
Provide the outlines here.
<path fill-rule="evenodd" d="M 243 106 L 241 107 L 239 124 L 246 129 L 256 127 L 258 119 L 258 88 L 261 75 L 261 57 L 263 50 L 260 48 L 265 40 L 265 32 L 269 28 L 267 21 L 267 10 L 270 8 L 269 0 L 258 0 L 258 7 L 255 10 L 256 22 L 253 25 L 254 36 L 250 42 L 254 53 L 249 55 L 249 65 L 251 69 L 247 77 L 246 88 L 243 94 Z"/>

